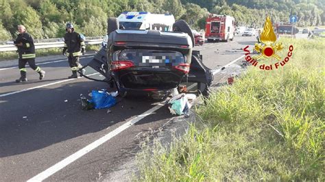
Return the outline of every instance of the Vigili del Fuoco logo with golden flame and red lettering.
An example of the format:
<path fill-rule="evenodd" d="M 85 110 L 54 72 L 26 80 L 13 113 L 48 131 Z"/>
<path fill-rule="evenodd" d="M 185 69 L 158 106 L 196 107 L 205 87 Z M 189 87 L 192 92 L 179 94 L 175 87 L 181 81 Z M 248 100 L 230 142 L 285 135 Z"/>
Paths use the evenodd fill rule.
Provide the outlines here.
<path fill-rule="evenodd" d="M 281 57 L 277 55 L 276 53 L 279 51 L 282 51 L 283 45 L 282 43 L 276 43 L 276 34 L 274 34 L 274 30 L 272 27 L 272 21 L 269 16 L 267 16 L 263 31 L 261 33 L 260 40 L 261 43 L 255 43 L 254 51 L 258 53 L 257 56 L 250 57 L 250 51 L 248 50 L 249 46 L 246 46 L 243 51 L 245 51 L 245 60 L 247 62 L 250 62 L 252 66 L 258 66 L 261 70 L 273 70 L 280 68 L 280 66 L 285 66 L 287 62 L 289 62 L 290 57 L 292 55 L 293 51 L 293 45 L 289 46 L 289 51 L 287 53 L 287 57 L 285 57 L 284 60 L 281 61 Z M 259 64 L 258 59 L 261 60 L 261 58 L 271 58 L 274 57 L 278 62 L 275 64 Z"/>

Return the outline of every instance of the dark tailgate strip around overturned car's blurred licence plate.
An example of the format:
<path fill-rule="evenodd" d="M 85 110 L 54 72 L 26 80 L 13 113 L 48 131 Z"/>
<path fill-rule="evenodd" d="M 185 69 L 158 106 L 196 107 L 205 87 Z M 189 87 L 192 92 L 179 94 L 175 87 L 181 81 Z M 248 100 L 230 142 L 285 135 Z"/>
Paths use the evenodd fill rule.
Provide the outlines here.
<path fill-rule="evenodd" d="M 167 64 L 173 66 L 185 62 L 185 57 L 182 53 L 177 51 L 157 51 L 147 49 L 124 49 L 121 51 L 115 51 L 113 53 L 113 61 L 125 61 L 129 60 L 138 64 L 139 66 L 147 65 L 161 65 Z"/>

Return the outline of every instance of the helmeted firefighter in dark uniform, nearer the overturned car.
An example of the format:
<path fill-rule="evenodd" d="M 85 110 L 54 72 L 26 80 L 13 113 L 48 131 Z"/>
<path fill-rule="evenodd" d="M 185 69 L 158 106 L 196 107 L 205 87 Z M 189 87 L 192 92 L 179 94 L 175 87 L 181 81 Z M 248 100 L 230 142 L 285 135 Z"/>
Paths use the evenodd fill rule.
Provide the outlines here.
<path fill-rule="evenodd" d="M 71 23 L 67 23 L 66 31 L 67 33 L 64 35 L 64 48 L 62 54 L 67 55 L 68 57 L 69 66 L 72 70 L 72 75 L 68 78 L 73 79 L 77 78 L 77 70 L 82 68 L 82 65 L 79 62 L 79 56 L 84 53 L 84 36 L 75 32 Z M 82 69 L 82 75 L 84 75 L 84 72 L 85 70 Z"/>

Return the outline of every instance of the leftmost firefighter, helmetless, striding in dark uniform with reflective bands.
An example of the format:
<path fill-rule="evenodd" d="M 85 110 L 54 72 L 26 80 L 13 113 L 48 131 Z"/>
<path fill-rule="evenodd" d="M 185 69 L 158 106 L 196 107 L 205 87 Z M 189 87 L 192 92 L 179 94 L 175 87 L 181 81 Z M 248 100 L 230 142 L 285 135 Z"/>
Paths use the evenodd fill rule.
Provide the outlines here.
<path fill-rule="evenodd" d="M 19 54 L 19 70 L 21 71 L 21 77 L 16 79 L 17 83 L 27 81 L 26 78 L 26 63 L 28 62 L 29 66 L 36 70 L 36 72 L 40 75 L 40 79 L 45 77 L 45 71 L 41 70 L 39 66 L 35 64 L 35 45 L 34 39 L 31 35 L 26 32 L 26 28 L 24 25 L 18 25 L 19 34 L 14 40 L 14 45 L 18 49 Z"/>

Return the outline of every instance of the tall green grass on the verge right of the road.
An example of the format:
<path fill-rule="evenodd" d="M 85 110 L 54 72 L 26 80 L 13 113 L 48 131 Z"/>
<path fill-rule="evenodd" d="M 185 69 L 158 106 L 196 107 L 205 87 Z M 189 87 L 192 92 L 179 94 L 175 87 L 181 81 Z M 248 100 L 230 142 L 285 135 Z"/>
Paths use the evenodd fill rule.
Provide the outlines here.
<path fill-rule="evenodd" d="M 196 108 L 203 125 L 144 147 L 138 180 L 324 181 L 325 41 L 280 41 L 294 47 L 285 66 L 248 68 L 212 93 Z"/>

